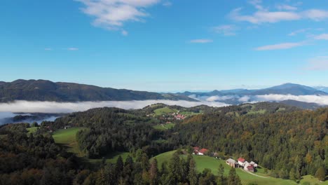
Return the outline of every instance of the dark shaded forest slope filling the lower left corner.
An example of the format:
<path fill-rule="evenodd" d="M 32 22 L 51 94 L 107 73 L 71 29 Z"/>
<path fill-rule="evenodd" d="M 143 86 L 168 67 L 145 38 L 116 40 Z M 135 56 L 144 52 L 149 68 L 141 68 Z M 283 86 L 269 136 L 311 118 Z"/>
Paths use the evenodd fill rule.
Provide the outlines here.
<path fill-rule="evenodd" d="M 83 163 L 53 138 L 26 134 L 28 124 L 0 128 L 0 184 L 71 184 Z"/>

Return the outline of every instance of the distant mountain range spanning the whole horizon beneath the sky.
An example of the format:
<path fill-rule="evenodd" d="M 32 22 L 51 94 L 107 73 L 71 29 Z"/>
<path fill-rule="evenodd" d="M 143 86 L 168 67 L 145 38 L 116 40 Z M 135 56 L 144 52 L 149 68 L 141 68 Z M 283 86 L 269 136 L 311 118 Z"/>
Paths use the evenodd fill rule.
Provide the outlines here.
<path fill-rule="evenodd" d="M 328 95 L 327 88 L 311 88 L 305 85 L 285 83 L 271 88 L 247 90 L 213 90 L 211 92 L 191 93 L 151 93 L 146 91 L 101 88 L 95 85 L 78 83 L 52 82 L 46 80 L 0 81 L 0 102 L 14 100 L 53 101 L 53 102 L 85 102 L 85 101 L 128 101 L 128 100 L 186 100 L 223 102 L 241 104 L 245 102 L 282 102 L 283 104 L 302 109 L 317 109 L 322 105 L 296 100 L 268 100 L 271 95 Z M 261 99 L 264 98 L 264 99 Z"/>

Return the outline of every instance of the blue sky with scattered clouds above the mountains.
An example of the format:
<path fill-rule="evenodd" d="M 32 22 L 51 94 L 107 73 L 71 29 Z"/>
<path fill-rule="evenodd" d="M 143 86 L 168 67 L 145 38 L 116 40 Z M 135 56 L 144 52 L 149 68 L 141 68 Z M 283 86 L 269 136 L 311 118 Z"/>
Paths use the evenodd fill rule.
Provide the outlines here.
<path fill-rule="evenodd" d="M 328 1 L 4 0 L 0 81 L 328 86 Z"/>

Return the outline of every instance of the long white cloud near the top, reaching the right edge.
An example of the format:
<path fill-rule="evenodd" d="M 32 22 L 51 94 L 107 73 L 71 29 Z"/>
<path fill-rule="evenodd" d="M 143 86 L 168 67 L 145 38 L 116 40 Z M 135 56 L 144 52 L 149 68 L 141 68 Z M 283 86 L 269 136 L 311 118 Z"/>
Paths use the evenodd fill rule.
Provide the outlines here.
<path fill-rule="evenodd" d="M 281 21 L 310 19 L 321 21 L 328 19 L 328 11 L 310 9 L 308 11 L 266 11 L 258 10 L 251 15 L 241 15 L 242 8 L 231 11 L 229 17 L 235 21 L 250 22 L 252 24 L 275 23 Z"/>

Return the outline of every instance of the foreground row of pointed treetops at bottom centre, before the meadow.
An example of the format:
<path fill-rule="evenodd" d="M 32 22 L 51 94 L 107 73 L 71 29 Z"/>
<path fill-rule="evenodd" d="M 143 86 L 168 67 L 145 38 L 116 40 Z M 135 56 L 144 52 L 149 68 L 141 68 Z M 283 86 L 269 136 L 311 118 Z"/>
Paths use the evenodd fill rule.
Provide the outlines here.
<path fill-rule="evenodd" d="M 235 169 L 231 168 L 228 177 L 224 176 L 224 167 L 219 166 L 217 176 L 212 174 L 210 169 L 205 169 L 202 173 L 196 170 L 196 163 L 191 155 L 186 159 L 179 156 L 179 151 L 175 152 L 169 163 L 162 163 L 158 167 L 156 159 L 149 160 L 146 153 L 139 153 L 135 161 L 130 156 L 125 163 L 121 156 L 116 163 L 103 165 L 97 172 L 87 171 L 83 178 L 78 179 L 79 184 L 190 184 L 190 185 L 240 185 L 240 178 Z M 149 162 L 150 161 L 150 162 Z"/>

